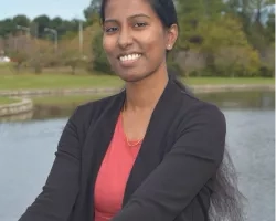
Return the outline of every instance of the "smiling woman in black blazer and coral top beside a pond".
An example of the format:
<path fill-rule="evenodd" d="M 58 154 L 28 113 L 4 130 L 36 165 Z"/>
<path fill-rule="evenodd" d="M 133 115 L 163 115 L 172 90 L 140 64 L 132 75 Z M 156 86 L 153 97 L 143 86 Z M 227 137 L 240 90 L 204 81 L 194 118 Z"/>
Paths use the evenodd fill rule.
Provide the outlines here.
<path fill-rule="evenodd" d="M 172 0 L 104 0 L 100 15 L 105 52 L 126 87 L 71 116 L 20 221 L 240 221 L 222 167 L 224 115 L 168 76 Z"/>

